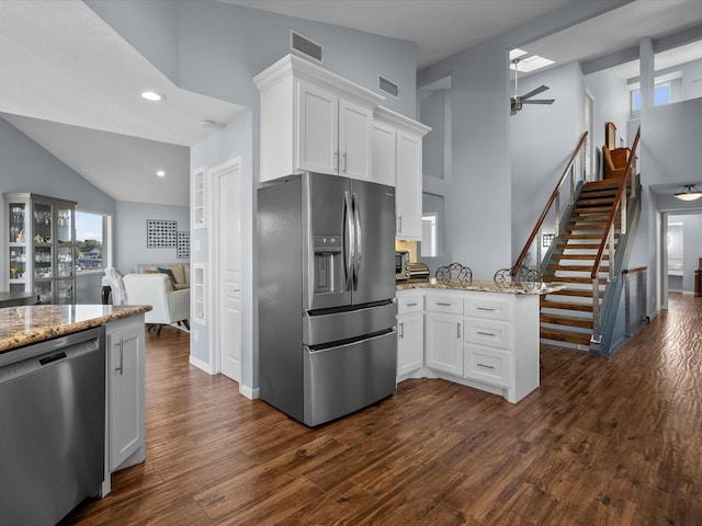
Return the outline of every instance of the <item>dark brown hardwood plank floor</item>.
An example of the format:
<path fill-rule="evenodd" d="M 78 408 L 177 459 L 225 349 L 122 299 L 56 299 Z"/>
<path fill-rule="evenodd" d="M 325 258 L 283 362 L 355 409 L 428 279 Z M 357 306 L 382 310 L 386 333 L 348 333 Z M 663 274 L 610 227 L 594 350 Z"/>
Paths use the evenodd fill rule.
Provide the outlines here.
<path fill-rule="evenodd" d="M 309 430 L 147 334 L 147 459 L 80 525 L 702 525 L 702 298 L 611 359 L 542 346 L 513 405 L 442 380 Z M 0 521 L 1 522 L 1 521 Z"/>

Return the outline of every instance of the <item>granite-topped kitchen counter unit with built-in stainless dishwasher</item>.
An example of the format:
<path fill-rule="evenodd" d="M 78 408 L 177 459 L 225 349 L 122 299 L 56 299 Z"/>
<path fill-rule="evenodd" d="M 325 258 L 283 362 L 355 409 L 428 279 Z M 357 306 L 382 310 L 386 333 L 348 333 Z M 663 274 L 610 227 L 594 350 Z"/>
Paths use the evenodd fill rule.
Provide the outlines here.
<path fill-rule="evenodd" d="M 144 460 L 144 313 L 150 306 L 0 308 L 0 508 L 55 524 Z M 37 506 L 36 501 L 42 502 Z"/>

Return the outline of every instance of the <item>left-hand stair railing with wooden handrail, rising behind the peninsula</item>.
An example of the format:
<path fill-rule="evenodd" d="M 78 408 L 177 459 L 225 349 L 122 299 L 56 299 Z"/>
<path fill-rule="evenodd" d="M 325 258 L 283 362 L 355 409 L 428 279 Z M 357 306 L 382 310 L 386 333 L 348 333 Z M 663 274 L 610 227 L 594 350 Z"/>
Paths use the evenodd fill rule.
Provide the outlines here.
<path fill-rule="evenodd" d="M 519 274 L 519 272 L 523 268 L 524 262 L 526 261 L 526 258 L 529 255 L 530 252 L 532 252 L 532 247 L 534 245 L 535 242 L 535 251 L 536 251 L 536 266 L 540 268 L 541 267 L 541 249 L 542 249 L 542 244 L 541 242 L 539 242 L 539 240 L 542 238 L 541 233 L 542 233 L 542 229 L 544 227 L 544 222 L 546 221 L 547 218 L 553 218 L 554 220 L 554 228 L 553 228 L 553 232 L 554 232 L 554 237 L 557 238 L 559 235 L 559 228 L 561 228 L 561 193 L 562 193 L 562 187 L 566 181 L 566 178 L 568 178 L 568 175 L 570 175 L 568 178 L 569 182 L 570 182 L 570 198 L 569 198 L 569 204 L 573 205 L 573 203 L 575 202 L 575 191 L 576 191 L 576 184 L 577 181 L 576 179 L 578 179 L 577 175 L 577 163 L 576 161 L 578 160 L 578 156 L 580 156 L 580 181 L 585 182 L 586 178 L 587 178 L 587 170 L 585 167 L 585 146 L 587 145 L 587 137 L 588 137 L 588 133 L 584 133 L 582 137 L 580 138 L 580 141 L 578 142 L 578 146 L 576 146 L 575 150 L 573 151 L 573 155 L 570 156 L 570 160 L 568 161 L 568 163 L 566 164 L 565 169 L 563 170 L 563 174 L 561 175 L 561 179 L 558 180 L 558 182 L 556 183 L 556 186 L 554 187 L 553 192 L 551 193 L 551 197 L 548 197 L 548 201 L 546 202 L 546 206 L 544 207 L 543 211 L 541 213 L 541 216 L 539 216 L 539 220 L 536 221 L 536 225 L 534 226 L 534 229 L 531 231 L 531 233 L 529 235 L 529 238 L 526 240 L 526 243 L 524 244 L 524 248 L 522 249 L 521 253 L 519 254 L 519 258 L 517 259 L 517 261 L 514 262 L 514 265 L 512 266 L 512 268 L 510 270 L 512 277 L 517 276 Z"/>

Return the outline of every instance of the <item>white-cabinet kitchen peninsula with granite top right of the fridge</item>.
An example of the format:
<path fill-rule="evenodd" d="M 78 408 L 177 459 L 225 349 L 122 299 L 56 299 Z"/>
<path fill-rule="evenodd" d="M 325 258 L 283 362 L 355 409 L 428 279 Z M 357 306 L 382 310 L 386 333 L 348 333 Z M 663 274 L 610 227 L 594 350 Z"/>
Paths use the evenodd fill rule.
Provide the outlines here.
<path fill-rule="evenodd" d="M 442 378 L 511 403 L 539 388 L 539 300 L 562 285 L 398 282 L 397 381 Z"/>

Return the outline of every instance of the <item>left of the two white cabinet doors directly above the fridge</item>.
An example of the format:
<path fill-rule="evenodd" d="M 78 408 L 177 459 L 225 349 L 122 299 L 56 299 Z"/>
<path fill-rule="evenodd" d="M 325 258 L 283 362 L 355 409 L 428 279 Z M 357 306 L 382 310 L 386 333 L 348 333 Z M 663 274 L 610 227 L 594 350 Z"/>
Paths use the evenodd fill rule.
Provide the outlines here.
<path fill-rule="evenodd" d="M 305 81 L 298 85 L 297 168 L 337 174 L 339 98 Z"/>

